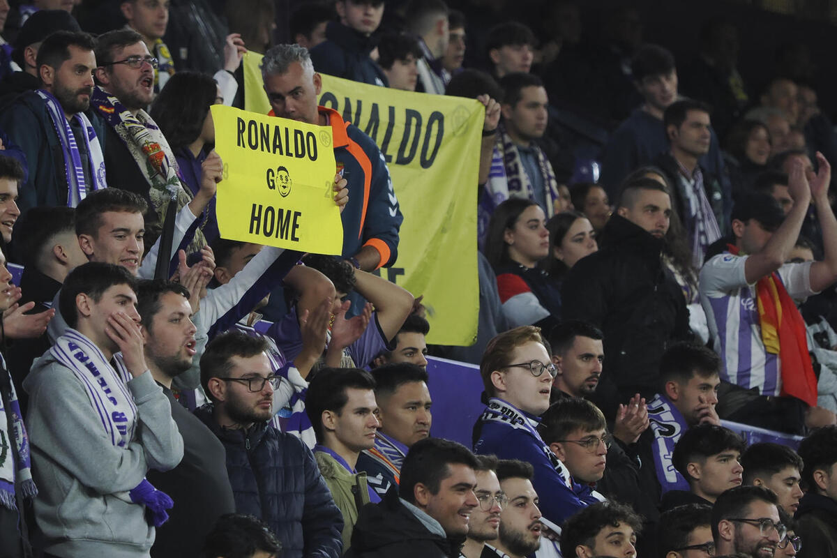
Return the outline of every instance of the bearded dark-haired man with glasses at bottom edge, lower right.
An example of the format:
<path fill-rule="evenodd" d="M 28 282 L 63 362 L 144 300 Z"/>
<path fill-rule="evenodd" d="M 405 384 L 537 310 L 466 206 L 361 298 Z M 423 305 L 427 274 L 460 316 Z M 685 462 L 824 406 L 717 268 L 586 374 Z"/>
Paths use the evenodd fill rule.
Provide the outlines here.
<path fill-rule="evenodd" d="M 779 521 L 778 499 L 763 486 L 739 486 L 718 496 L 712 506 L 716 555 L 741 552 L 752 558 L 773 558 L 787 527 Z M 818 551 L 824 547 L 816 547 Z"/>

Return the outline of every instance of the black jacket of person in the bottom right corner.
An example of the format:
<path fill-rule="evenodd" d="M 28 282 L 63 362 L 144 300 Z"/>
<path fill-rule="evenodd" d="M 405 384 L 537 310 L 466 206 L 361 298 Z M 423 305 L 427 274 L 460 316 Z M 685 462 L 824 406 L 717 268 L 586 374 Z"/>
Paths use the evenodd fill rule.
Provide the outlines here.
<path fill-rule="evenodd" d="M 802 537 L 798 558 L 837 556 L 837 502 L 820 494 L 805 494 L 796 510 L 796 534 Z"/>

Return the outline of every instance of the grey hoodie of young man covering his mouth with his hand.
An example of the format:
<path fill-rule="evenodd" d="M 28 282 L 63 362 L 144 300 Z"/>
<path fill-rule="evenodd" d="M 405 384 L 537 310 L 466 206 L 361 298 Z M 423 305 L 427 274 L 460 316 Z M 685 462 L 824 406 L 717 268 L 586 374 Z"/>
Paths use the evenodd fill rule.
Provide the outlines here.
<path fill-rule="evenodd" d="M 81 381 L 47 351 L 23 381 L 29 394 L 26 428 L 33 478 L 39 487 L 35 519 L 40 547 L 58 556 L 148 556 L 154 527 L 145 506 L 127 491 L 149 468 L 166 471 L 183 456 L 172 407 L 146 371 L 127 384 L 137 409 L 126 448 L 110 442 Z M 175 503 L 177 505 L 177 503 Z"/>

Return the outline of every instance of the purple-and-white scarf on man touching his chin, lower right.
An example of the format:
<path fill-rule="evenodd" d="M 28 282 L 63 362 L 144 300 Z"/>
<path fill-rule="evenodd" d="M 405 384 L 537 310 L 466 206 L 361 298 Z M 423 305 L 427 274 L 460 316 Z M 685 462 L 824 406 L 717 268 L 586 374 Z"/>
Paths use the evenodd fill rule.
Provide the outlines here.
<path fill-rule="evenodd" d="M 660 480 L 663 489 L 662 494 L 669 490 L 688 490 L 689 484 L 683 475 L 677 472 L 671 461 L 675 443 L 680 439 L 680 435 L 689 429 L 686 419 L 668 397 L 658 393 L 648 404 L 648 420 L 651 423 L 651 432 L 654 433 L 652 453 L 657 479 Z"/>

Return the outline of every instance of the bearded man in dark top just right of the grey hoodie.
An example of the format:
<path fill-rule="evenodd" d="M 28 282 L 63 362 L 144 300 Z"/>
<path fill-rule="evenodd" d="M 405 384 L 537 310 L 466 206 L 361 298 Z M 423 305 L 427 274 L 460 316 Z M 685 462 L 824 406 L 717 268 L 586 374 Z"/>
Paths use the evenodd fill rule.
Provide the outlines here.
<path fill-rule="evenodd" d="M 192 366 L 197 346 L 189 297 L 182 284 L 170 281 L 141 281 L 136 288 L 146 362 L 172 406 L 172 418 L 183 437 L 180 464 L 165 473 L 148 473 L 151 484 L 177 502 L 168 522 L 157 529 L 151 547 L 154 558 L 196 558 L 197 549 L 215 521 L 235 511 L 223 445 L 203 422 L 177 402 L 172 392 L 172 380 Z"/>

